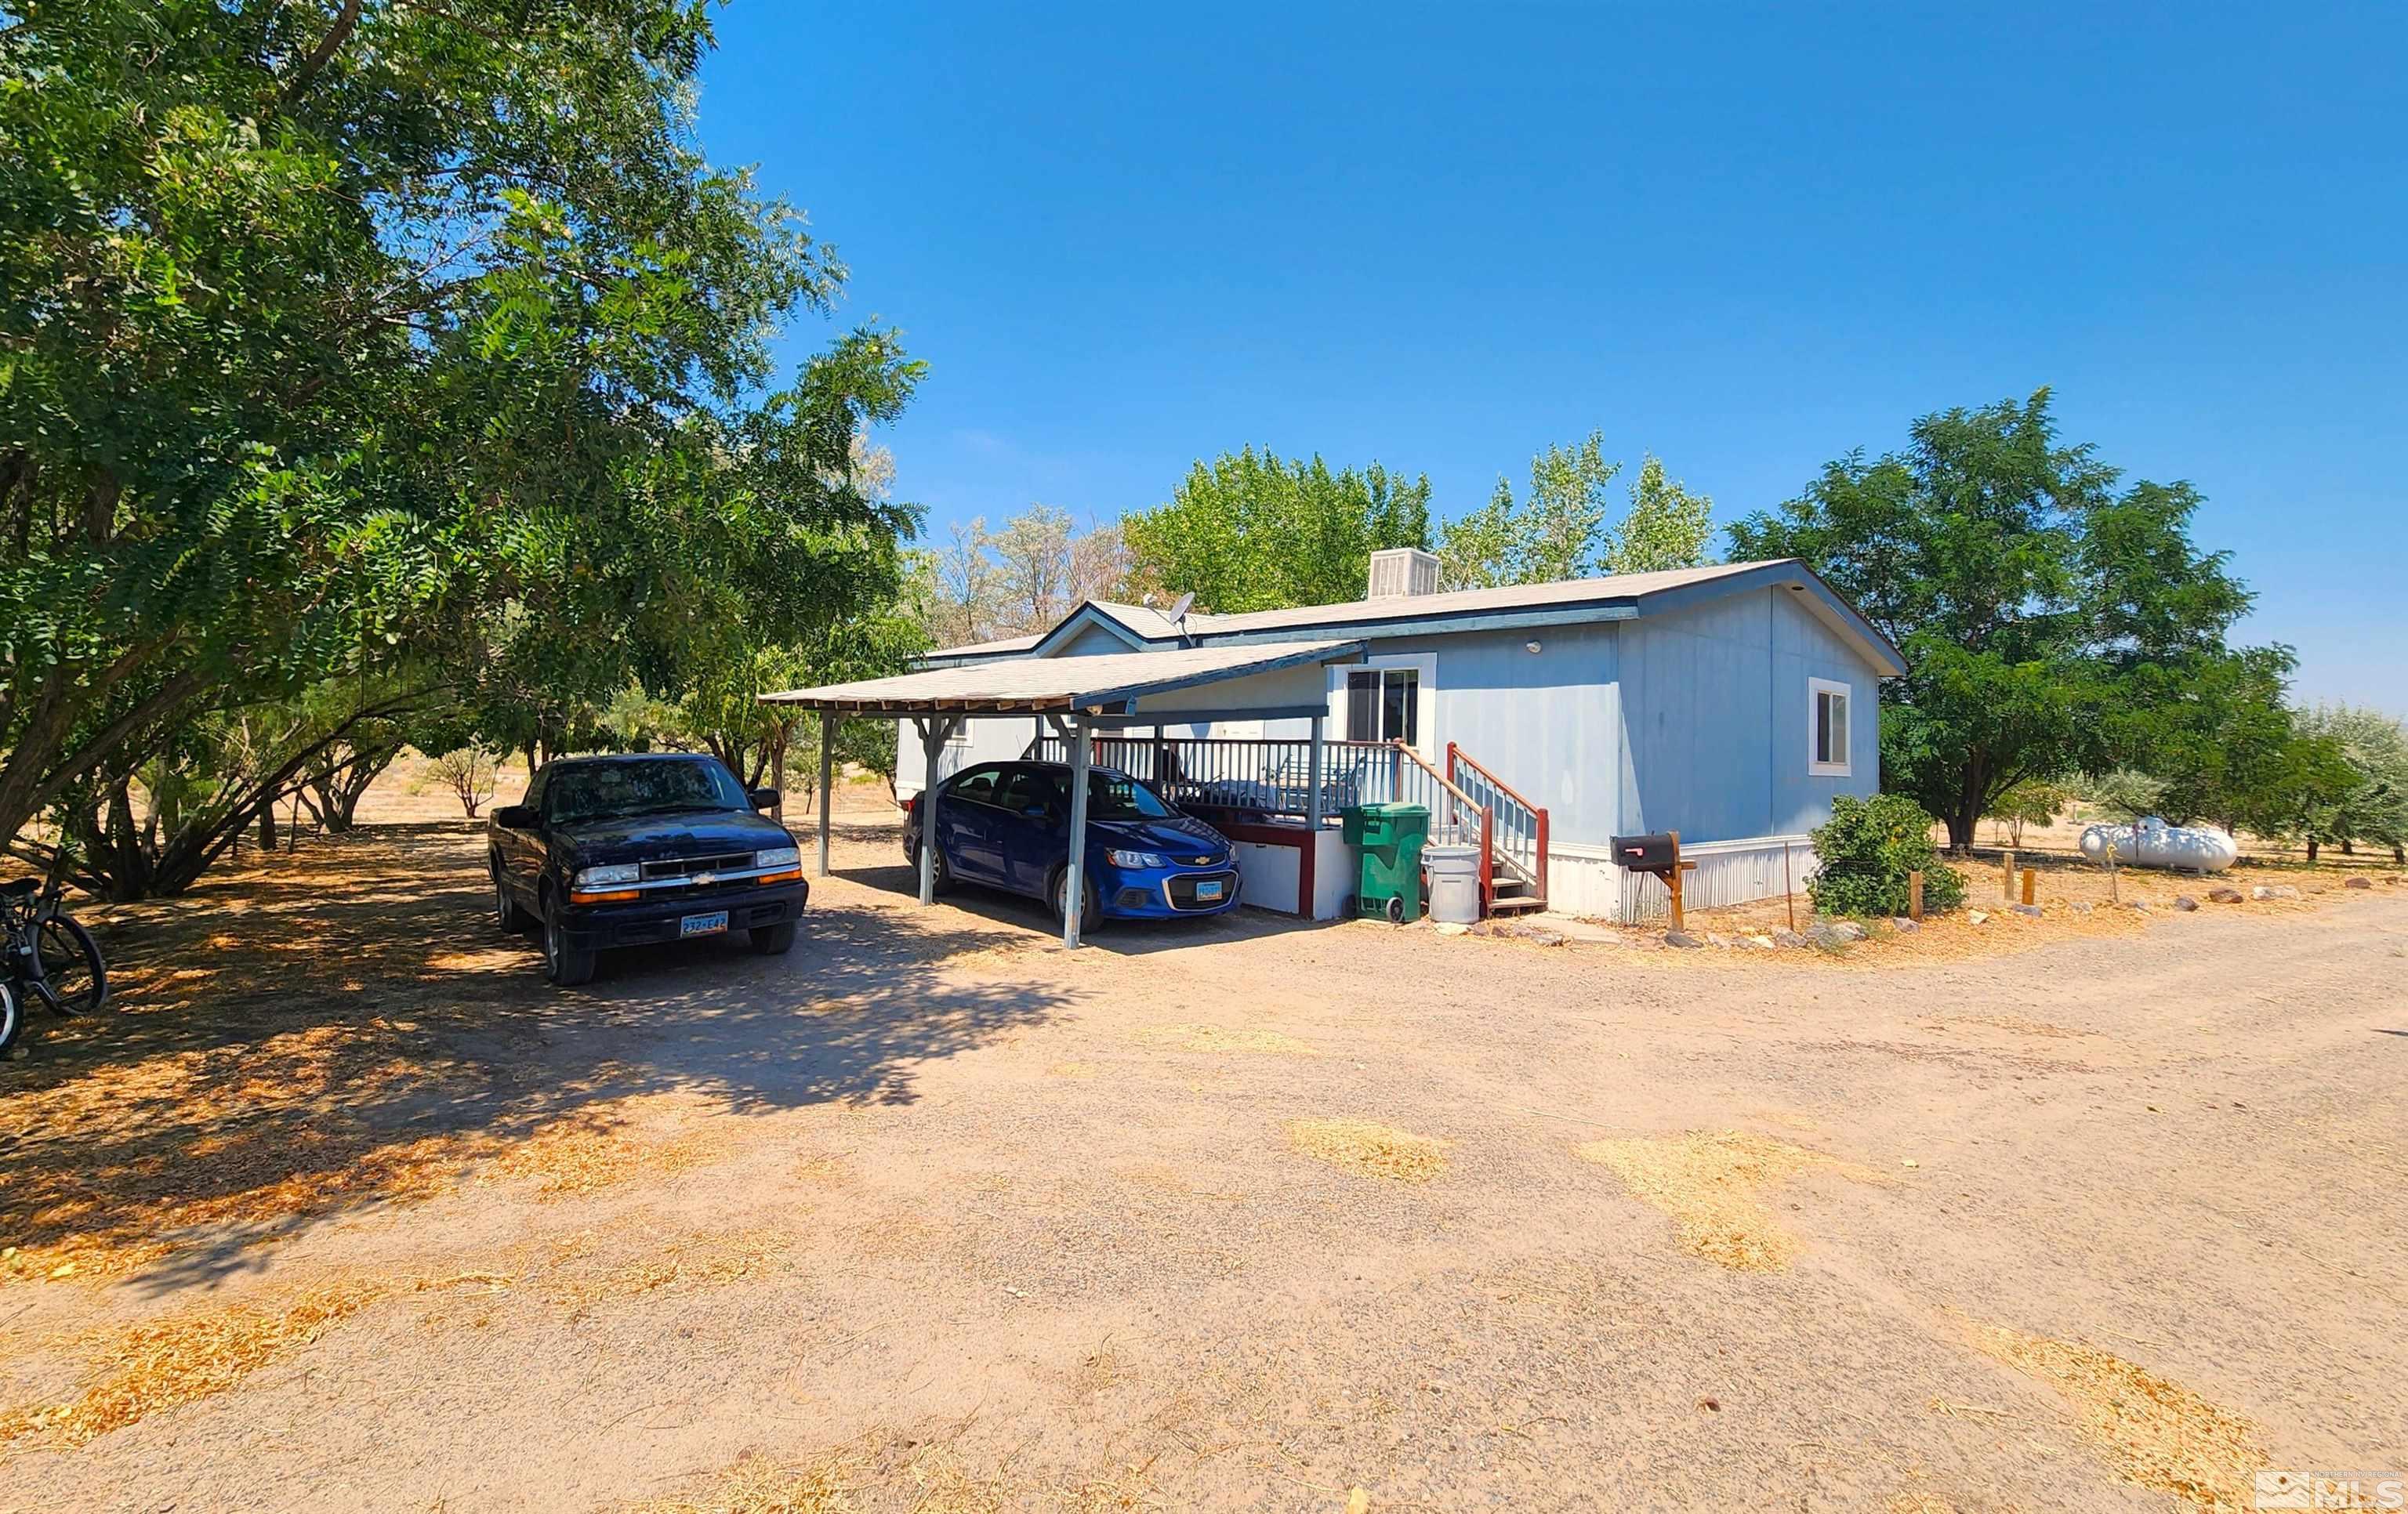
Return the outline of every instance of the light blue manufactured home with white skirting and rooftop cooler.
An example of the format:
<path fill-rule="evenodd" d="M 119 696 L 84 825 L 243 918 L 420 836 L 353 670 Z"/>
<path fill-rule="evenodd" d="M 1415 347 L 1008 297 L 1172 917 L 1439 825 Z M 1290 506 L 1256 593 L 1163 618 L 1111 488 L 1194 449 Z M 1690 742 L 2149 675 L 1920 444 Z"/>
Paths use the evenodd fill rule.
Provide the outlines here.
<path fill-rule="evenodd" d="M 929 758 L 942 777 L 1062 758 L 1079 739 L 1091 761 L 1238 840 L 1257 905 L 1334 915 L 1348 876 L 1336 814 L 1399 799 L 1430 806 L 1435 838 L 1481 845 L 1491 910 L 1635 919 L 1654 912 L 1662 886 L 1618 869 L 1611 838 L 1678 830 L 1695 862 L 1688 903 L 1743 903 L 1801 883 L 1832 797 L 1878 785 L 1878 684 L 1905 662 L 1799 561 L 1500 590 L 1435 582 L 1430 554 L 1382 551 L 1370 592 L 1348 604 L 1173 619 L 1086 602 L 1043 635 L 944 647 L 922 669 L 951 669 L 944 686 L 966 691 L 1004 672 L 1021 686 L 1045 672 L 1026 664 L 1069 657 L 1110 657 L 1110 681 L 1134 688 L 1127 669 L 1168 655 L 1151 667 L 1204 672 L 1161 686 L 1243 679 L 1257 693 L 1238 708 L 1209 688 L 1185 708 L 1156 698 L 1151 725 L 1132 698 L 1112 705 L 1115 725 L 1084 734 L 968 700 L 961 717 L 922 725 L 925 741 L 903 739 L 896 789 L 920 792 Z M 1267 681 L 1276 698 L 1259 693 Z M 1230 688 L 1240 684 L 1221 684 Z"/>

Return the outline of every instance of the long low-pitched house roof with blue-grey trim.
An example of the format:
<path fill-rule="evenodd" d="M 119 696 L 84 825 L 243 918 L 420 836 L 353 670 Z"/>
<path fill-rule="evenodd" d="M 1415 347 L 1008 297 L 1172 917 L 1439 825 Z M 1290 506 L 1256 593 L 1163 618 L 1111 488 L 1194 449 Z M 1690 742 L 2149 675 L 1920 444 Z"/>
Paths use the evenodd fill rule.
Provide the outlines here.
<path fill-rule="evenodd" d="M 1832 592 L 1806 563 L 1767 558 L 1758 563 L 1714 563 L 1710 568 L 1671 568 L 1666 573 L 1618 573 L 1611 578 L 1560 578 L 1519 582 L 1495 590 L 1450 590 L 1442 595 L 1392 595 L 1385 599 L 1348 599 L 1344 604 L 1303 604 L 1250 614 L 1190 614 L 1173 623 L 1144 604 L 1088 599 L 1045 635 L 1016 635 L 929 652 L 929 662 L 985 660 L 1038 652 L 1067 640 L 1084 623 L 1108 623 L 1132 645 L 1182 643 L 1269 643 L 1303 635 L 1401 635 L 1416 631 L 1479 631 L 1483 626 L 1531 626 L 1556 619 L 1635 619 L 1654 609 L 1678 609 L 1702 595 L 1741 587 L 1792 585 L 1813 595 L 1818 614 L 1861 640 L 1869 657 L 1890 674 L 1905 674 L 1905 657 L 1857 607 Z"/>

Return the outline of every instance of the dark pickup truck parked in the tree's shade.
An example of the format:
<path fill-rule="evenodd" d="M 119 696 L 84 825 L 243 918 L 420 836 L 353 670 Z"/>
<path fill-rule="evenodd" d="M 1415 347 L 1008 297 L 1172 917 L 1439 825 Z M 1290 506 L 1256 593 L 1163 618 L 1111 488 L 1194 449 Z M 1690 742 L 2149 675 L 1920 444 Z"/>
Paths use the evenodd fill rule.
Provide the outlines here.
<path fill-rule="evenodd" d="M 811 898 L 802 852 L 761 816 L 775 789 L 744 792 L 710 756 L 561 758 L 486 821 L 494 915 L 539 929 L 544 972 L 578 984 L 609 946 L 751 932 L 754 951 L 795 944 Z"/>

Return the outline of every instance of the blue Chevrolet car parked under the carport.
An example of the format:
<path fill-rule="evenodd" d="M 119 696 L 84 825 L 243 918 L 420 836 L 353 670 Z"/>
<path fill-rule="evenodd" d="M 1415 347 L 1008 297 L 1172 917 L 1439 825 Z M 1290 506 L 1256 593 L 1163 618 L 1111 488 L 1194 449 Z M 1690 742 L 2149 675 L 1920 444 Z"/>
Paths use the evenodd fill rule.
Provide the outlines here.
<path fill-rule="evenodd" d="M 1079 919 L 1170 919 L 1238 907 L 1238 852 L 1226 835 L 1163 804 L 1117 768 L 1086 775 L 1086 888 Z M 1069 895 L 1069 765 L 980 763 L 937 785 L 937 891 L 1009 888 L 1052 905 Z M 915 794 L 903 854 L 920 867 Z"/>

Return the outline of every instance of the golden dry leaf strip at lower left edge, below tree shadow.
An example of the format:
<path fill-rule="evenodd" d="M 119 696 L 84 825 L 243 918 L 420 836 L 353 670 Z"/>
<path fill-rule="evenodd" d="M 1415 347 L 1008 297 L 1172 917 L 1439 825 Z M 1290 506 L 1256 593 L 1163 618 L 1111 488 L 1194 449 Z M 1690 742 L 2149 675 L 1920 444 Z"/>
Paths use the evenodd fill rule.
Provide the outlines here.
<path fill-rule="evenodd" d="M 101 1370 L 67 1403 L 0 1413 L 0 1444 L 82 1447 L 161 1408 L 224 1394 L 385 1293 L 388 1283 L 335 1283 L 282 1309 L 234 1305 L 137 1324 L 94 1355 Z"/>

